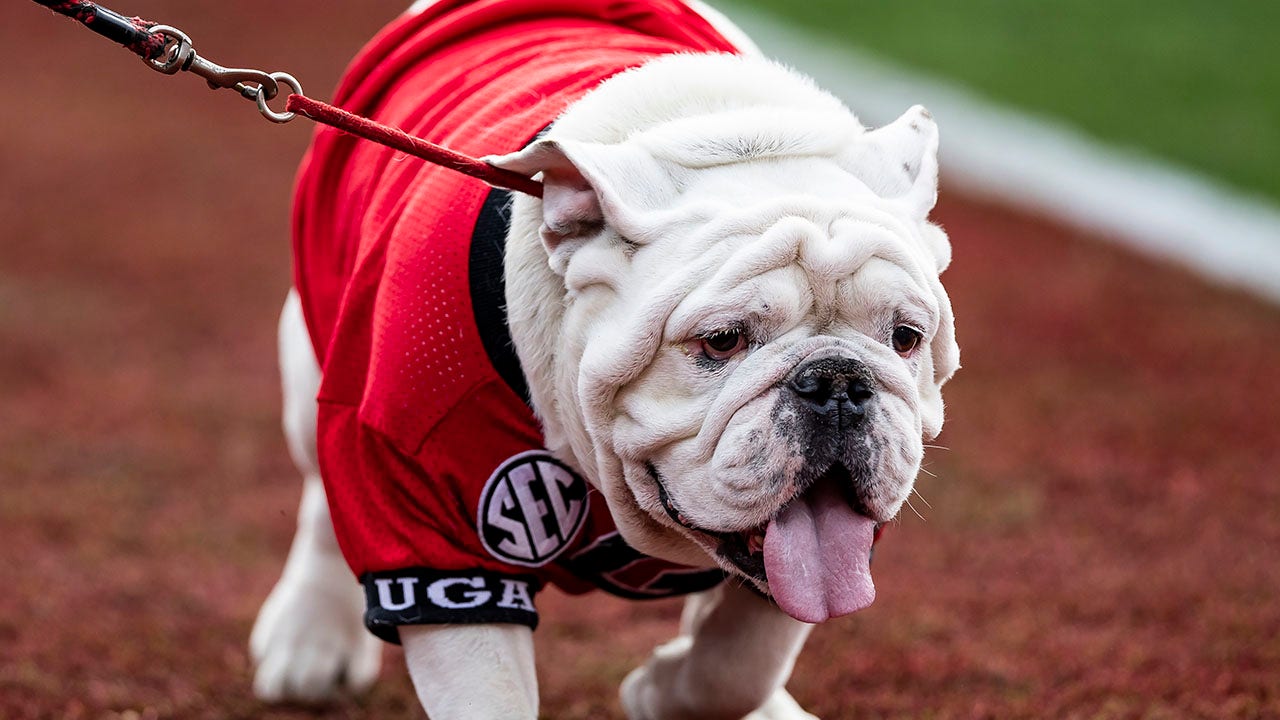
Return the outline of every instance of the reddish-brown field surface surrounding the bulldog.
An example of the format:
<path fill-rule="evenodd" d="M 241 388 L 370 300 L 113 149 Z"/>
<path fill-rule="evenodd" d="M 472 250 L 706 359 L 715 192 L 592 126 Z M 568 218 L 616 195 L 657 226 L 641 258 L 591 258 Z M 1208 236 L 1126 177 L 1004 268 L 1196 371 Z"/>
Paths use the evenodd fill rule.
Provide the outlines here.
<path fill-rule="evenodd" d="M 119 9 L 324 99 L 401 6 Z M 301 488 L 274 323 L 308 128 L 32 3 L 0 9 L 0 717 L 421 716 L 394 650 L 332 707 L 250 688 Z M 950 450 L 794 694 L 831 719 L 1280 717 L 1280 309 L 963 191 L 938 211 Z M 540 605 L 557 719 L 621 717 L 678 615 Z"/>

